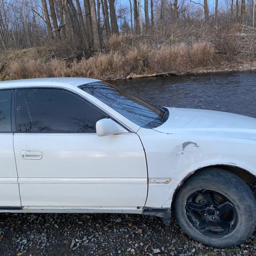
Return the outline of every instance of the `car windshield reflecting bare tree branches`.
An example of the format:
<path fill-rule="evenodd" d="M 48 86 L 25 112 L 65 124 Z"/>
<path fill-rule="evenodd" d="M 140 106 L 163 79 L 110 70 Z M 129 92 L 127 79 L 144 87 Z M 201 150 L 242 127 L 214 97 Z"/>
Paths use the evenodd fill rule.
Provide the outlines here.
<path fill-rule="evenodd" d="M 156 128 L 169 116 L 166 108 L 151 105 L 106 82 L 92 82 L 79 88 L 143 128 Z"/>

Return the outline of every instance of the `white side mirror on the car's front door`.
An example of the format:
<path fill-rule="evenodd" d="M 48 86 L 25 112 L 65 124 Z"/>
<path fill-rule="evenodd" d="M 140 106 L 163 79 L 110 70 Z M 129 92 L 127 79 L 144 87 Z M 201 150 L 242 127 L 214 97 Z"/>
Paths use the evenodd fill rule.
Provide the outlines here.
<path fill-rule="evenodd" d="M 112 119 L 103 118 L 96 123 L 96 133 L 98 136 L 108 136 L 119 132 L 119 127 Z"/>

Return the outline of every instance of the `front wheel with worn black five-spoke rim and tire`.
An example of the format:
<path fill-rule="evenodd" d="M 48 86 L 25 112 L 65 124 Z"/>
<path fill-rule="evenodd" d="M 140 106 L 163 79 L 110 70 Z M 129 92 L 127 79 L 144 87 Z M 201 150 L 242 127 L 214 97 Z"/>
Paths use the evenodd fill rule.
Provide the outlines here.
<path fill-rule="evenodd" d="M 256 201 L 250 188 L 235 174 L 216 167 L 187 178 L 172 207 L 185 233 L 213 247 L 239 245 L 256 226 Z"/>

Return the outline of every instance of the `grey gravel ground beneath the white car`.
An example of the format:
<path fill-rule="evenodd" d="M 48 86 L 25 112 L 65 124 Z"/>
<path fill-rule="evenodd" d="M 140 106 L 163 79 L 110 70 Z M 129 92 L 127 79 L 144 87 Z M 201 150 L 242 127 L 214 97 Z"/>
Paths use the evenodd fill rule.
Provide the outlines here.
<path fill-rule="evenodd" d="M 256 186 L 251 185 L 256 196 Z M 1 256 L 256 255 L 256 232 L 235 248 L 204 246 L 185 233 L 174 218 L 136 214 L 0 214 Z"/>

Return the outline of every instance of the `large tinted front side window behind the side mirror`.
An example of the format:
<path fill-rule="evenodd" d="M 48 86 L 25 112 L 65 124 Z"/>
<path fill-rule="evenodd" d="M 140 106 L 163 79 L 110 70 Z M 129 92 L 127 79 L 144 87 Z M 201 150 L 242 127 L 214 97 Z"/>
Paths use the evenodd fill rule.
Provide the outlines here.
<path fill-rule="evenodd" d="M 59 89 L 16 90 L 18 132 L 96 133 L 106 115 L 71 92 Z"/>

